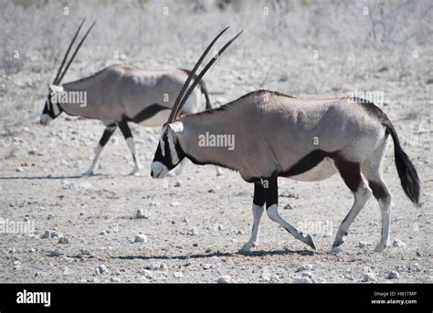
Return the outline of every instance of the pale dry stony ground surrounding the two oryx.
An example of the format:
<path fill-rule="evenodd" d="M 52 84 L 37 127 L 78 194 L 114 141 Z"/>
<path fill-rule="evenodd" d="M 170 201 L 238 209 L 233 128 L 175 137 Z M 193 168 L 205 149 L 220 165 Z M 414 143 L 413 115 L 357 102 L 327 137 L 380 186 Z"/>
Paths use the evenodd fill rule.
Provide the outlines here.
<path fill-rule="evenodd" d="M 0 120 L 0 217 L 15 225 L 28 223 L 35 226 L 31 234 L 13 234 L 11 231 L 0 234 L 0 281 L 214 283 L 221 276 L 230 276 L 238 283 L 360 283 L 365 274 L 372 273 L 375 282 L 432 283 L 433 48 L 431 32 L 428 37 L 428 32 L 416 28 L 421 27 L 423 21 L 426 24 L 431 21 L 429 3 L 420 1 L 416 7 L 400 7 L 398 2 L 393 2 L 390 7 L 382 4 L 385 13 L 394 13 L 383 17 L 385 26 L 375 26 L 372 22 L 371 29 L 377 31 L 378 39 L 375 39 L 376 48 L 371 49 L 362 49 L 364 43 L 353 49 L 334 47 L 329 43 L 330 37 L 335 38 L 335 42 L 339 42 L 340 35 L 343 37 L 343 33 L 334 31 L 343 29 L 342 18 L 347 16 L 342 16 L 349 12 L 344 10 L 355 10 L 352 6 L 342 8 L 331 2 L 310 3 L 290 6 L 289 13 L 284 14 L 291 17 L 283 15 L 280 19 L 290 20 L 289 26 L 297 20 L 309 23 L 314 16 L 321 15 L 320 12 L 331 10 L 337 26 L 328 29 L 326 24 L 319 24 L 315 26 L 319 29 L 317 34 L 306 31 L 296 39 L 286 40 L 296 42 L 293 47 L 281 43 L 284 38 L 281 39 L 279 34 L 284 33 L 287 25 L 281 26 L 277 35 L 267 37 L 269 50 L 261 42 L 257 48 L 253 44 L 254 39 L 263 38 L 257 30 L 265 28 L 261 22 L 257 22 L 257 29 L 253 28 L 256 30 L 248 34 L 247 18 L 234 19 L 235 30 L 247 29 L 243 35 L 246 39 L 239 40 L 235 45 L 238 47 L 227 51 L 206 76 L 211 100 L 223 103 L 259 88 L 275 89 L 306 99 L 347 96 L 355 89 L 382 92 L 387 103 L 382 109 L 395 123 L 422 183 L 422 203 L 415 207 L 401 189 L 394 152 L 389 149 L 385 181 L 395 203 L 391 243 L 398 239 L 404 245 L 391 246 L 381 254 L 373 252 L 381 226 L 379 207 L 372 197 L 352 224 L 343 251 L 330 253 L 336 230 L 353 202 L 342 179 L 334 175 L 318 183 L 279 181 L 280 214 L 291 224 L 312 233 L 317 251 L 302 245 L 264 215 L 259 246 L 251 254 L 241 255 L 238 249 L 248 240 L 252 224 L 253 186 L 243 182 L 237 172 L 225 170 L 224 175 L 216 176 L 215 167 L 192 163 L 187 164 L 180 176 L 153 180 L 149 169 L 158 129 L 132 127 L 143 163 L 140 176 L 128 175 L 132 170 L 132 157 L 120 131 L 116 130 L 101 154 L 98 174 L 81 177 L 90 165 L 103 126 L 97 120 L 82 120 L 64 114 L 48 127 L 38 124 L 38 115 L 47 96 L 46 82 L 54 75 L 58 62 L 54 66 L 35 44 L 31 53 L 23 52 L 26 57 L 17 68 L 10 61 L 10 68 L 0 69 L 0 108 L 5 112 Z M 369 4 L 354 6 L 362 12 L 364 5 Z M 87 11 L 81 6 L 79 13 L 83 16 Z M 16 15 L 24 10 L 20 7 L 7 9 L 9 14 L 15 12 Z M 26 10 L 34 10 L 36 16 L 41 16 L 48 9 L 30 7 Z M 201 10 L 203 12 L 195 13 L 200 23 L 209 16 L 217 19 L 228 15 L 214 7 L 206 6 Z M 412 18 L 419 23 L 408 19 L 405 12 L 415 15 Z M 126 15 L 121 19 L 126 19 Z M 305 15 L 311 19 L 306 19 Z M 350 16 L 355 23 L 354 14 Z M 222 18 L 222 23 L 226 23 L 227 17 Z M 398 24 L 398 18 L 408 21 L 407 37 L 380 33 L 390 29 L 386 23 Z M 323 20 L 326 18 L 321 17 L 319 22 L 325 23 Z M 70 29 L 65 43 L 78 21 L 79 17 L 76 17 L 72 22 L 66 22 Z M 104 21 L 99 22 L 100 28 Z M 5 23 L 13 22 L 6 19 Z M 208 34 L 214 34 L 221 26 L 215 22 L 206 29 Z M 354 36 L 366 32 L 361 26 L 353 27 L 358 32 Z M 11 27 L 4 29 L 7 32 Z M 46 31 L 52 34 L 60 30 Z M 23 36 L 23 32 L 16 34 Z M 395 32 L 400 34 L 401 29 Z M 296 37 L 290 34 L 293 35 L 290 38 Z M 12 32 L 5 35 L 10 37 Z M 67 80 L 90 75 L 103 66 L 120 62 L 103 59 L 107 52 L 100 41 L 102 35 L 101 30 L 95 29 L 95 37 L 90 36 L 85 46 L 91 46 L 94 40 L 100 49 L 95 51 L 100 52 L 83 47 Z M 213 36 L 205 35 L 200 33 L 206 39 L 203 42 L 195 40 L 195 46 L 185 49 L 182 55 L 175 52 L 181 50 L 181 43 L 185 44 L 186 35 L 174 43 L 174 49 L 162 46 L 160 53 L 153 56 L 150 48 L 146 48 L 143 55 L 132 57 L 125 52 L 123 58 L 125 62 L 146 68 L 190 68 L 204 43 Z M 309 36 L 313 38 L 311 42 L 305 39 Z M 15 44 L 20 47 L 19 42 Z M 374 46 L 370 42 L 367 44 Z M 14 42 L 9 45 L 13 51 Z M 61 54 L 65 46 L 50 48 L 56 48 Z M 312 57 L 316 48 L 321 57 Z M 412 55 L 416 49 L 419 50 L 418 58 Z M 289 203 L 292 209 L 284 210 Z M 146 212 L 146 218 L 136 218 L 140 208 Z M 55 233 L 51 233 L 53 237 L 42 238 L 46 231 Z M 139 234 L 145 235 L 147 241 L 134 242 Z M 56 235 L 67 239 L 59 241 Z M 360 243 L 365 246 L 360 247 Z M 303 265 L 311 268 L 298 271 Z M 393 270 L 399 277 L 388 279 L 388 273 Z"/>

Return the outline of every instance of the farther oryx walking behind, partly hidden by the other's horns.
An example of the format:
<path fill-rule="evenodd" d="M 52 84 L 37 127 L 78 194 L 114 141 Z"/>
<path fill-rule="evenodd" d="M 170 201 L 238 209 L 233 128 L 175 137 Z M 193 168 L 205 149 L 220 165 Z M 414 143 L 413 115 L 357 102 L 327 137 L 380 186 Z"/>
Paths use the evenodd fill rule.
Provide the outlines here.
<path fill-rule="evenodd" d="M 140 123 L 143 126 L 163 125 L 189 71 L 185 69 L 149 71 L 130 65 L 114 65 L 88 78 L 62 84 L 62 79 L 79 51 L 79 47 L 95 24 L 90 26 L 69 59 L 68 65 L 63 68 L 83 23 L 84 20 L 69 44 L 53 84 L 49 86 L 48 99 L 42 111 L 40 123 L 48 125 L 63 111 L 69 115 L 78 115 L 103 122 L 106 129 L 96 148 L 93 162 L 89 170 L 84 173 L 85 175 L 93 174 L 102 148 L 119 126 L 132 152 L 134 167 L 131 173 L 135 174 L 141 165 L 136 155 L 128 122 Z M 211 108 L 206 85 L 200 80 L 198 87 L 194 89 L 193 97 L 185 105 L 184 112 L 194 113 Z M 217 169 L 217 173 L 220 172 L 220 169 Z"/>

